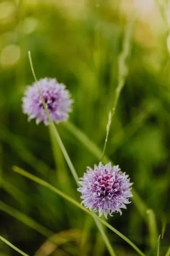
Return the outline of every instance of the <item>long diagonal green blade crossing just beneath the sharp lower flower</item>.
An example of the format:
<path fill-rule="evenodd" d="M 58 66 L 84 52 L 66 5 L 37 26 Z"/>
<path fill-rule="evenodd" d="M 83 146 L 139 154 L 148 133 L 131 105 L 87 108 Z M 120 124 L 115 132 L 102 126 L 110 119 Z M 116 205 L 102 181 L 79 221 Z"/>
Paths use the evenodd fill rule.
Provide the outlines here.
<path fill-rule="evenodd" d="M 54 186 L 52 186 L 51 184 L 49 184 L 45 180 L 42 180 L 42 179 L 40 179 L 40 178 L 38 178 L 38 177 L 36 177 L 34 175 L 31 175 L 30 173 L 24 171 L 23 169 L 21 169 L 21 168 L 19 168 L 17 166 L 14 166 L 13 170 L 14 170 L 14 172 L 17 172 L 20 175 L 23 175 L 24 177 L 27 177 L 28 179 L 33 180 L 34 182 L 36 182 L 36 183 L 38 183 L 38 184 L 40 184 L 40 185 L 50 189 L 51 191 L 55 192 L 57 195 L 61 196 L 65 200 L 69 201 L 71 204 L 74 204 L 75 206 L 77 206 L 80 209 L 82 209 L 84 212 L 86 212 L 89 215 L 91 215 L 92 217 L 94 217 L 94 212 L 89 211 L 88 209 L 83 207 L 81 204 L 79 204 L 76 200 L 74 200 L 73 198 L 69 197 L 68 195 L 65 195 L 65 193 L 63 193 L 59 189 L 55 188 Z M 120 233 L 118 230 L 116 230 L 114 227 L 112 227 L 110 224 L 108 224 L 106 221 L 102 220 L 98 216 L 95 216 L 95 218 L 97 218 L 98 221 L 100 221 L 102 224 L 104 224 L 106 227 L 108 227 L 110 230 L 112 230 L 114 233 L 116 233 L 118 236 L 120 236 L 128 244 L 130 244 L 130 246 L 133 247 L 133 249 L 136 250 L 136 252 L 139 253 L 139 255 L 145 256 L 145 254 L 142 253 L 142 251 L 135 244 L 133 244 L 133 242 L 130 241 L 126 236 L 124 236 L 122 233 Z"/>

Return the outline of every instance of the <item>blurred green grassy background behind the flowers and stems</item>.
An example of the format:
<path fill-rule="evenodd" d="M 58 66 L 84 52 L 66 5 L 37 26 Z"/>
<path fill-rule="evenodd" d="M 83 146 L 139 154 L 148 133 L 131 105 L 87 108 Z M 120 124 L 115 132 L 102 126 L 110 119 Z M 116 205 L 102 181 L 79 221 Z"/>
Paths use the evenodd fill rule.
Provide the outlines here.
<path fill-rule="evenodd" d="M 22 113 L 23 92 L 34 81 L 28 50 L 38 79 L 56 77 L 66 84 L 74 99 L 71 122 L 102 149 L 117 86 L 125 25 L 134 6 L 137 18 L 129 73 L 113 117 L 106 154 L 130 175 L 144 203 L 153 209 L 159 233 L 166 220 L 161 255 L 167 251 L 170 241 L 168 1 L 163 1 L 167 3 L 166 9 L 160 5 L 161 12 L 157 1 L 144 2 L 147 7 L 140 0 L 0 1 L 0 199 L 3 201 L 0 233 L 29 255 L 53 233 L 62 234 L 53 255 L 96 256 L 108 252 L 94 224 L 83 244 L 87 223 L 82 211 L 12 171 L 12 166 L 20 166 L 79 200 L 77 186 L 59 148 L 53 155 L 48 128 L 35 125 L 34 120 L 28 123 Z M 99 160 L 65 124 L 59 124 L 57 129 L 81 177 L 86 166 Z M 152 255 L 147 219 L 140 215 L 135 204 L 130 204 L 121 217 L 115 214 L 109 222 Z M 117 255 L 136 255 L 125 241 L 107 233 Z M 45 245 L 45 255 L 48 245 L 51 244 Z M 17 255 L 4 244 L 0 244 L 0 249 L 0 255 Z"/>

